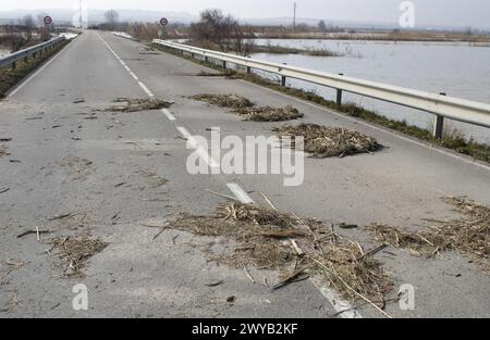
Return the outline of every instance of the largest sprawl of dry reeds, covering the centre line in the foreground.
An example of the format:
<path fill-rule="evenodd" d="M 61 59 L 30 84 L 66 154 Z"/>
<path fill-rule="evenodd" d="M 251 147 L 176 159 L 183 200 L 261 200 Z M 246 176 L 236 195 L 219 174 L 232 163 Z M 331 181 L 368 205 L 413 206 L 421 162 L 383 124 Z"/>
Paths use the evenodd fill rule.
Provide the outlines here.
<path fill-rule="evenodd" d="M 321 274 L 344 298 L 383 301 L 392 280 L 375 253 L 365 253 L 359 243 L 335 234 L 332 227 L 309 217 L 266 209 L 256 204 L 226 202 L 215 216 L 181 215 L 170 228 L 199 236 L 224 237 L 233 251 L 210 254 L 211 260 L 234 268 L 253 265 L 279 270 L 282 287 L 309 275 Z"/>

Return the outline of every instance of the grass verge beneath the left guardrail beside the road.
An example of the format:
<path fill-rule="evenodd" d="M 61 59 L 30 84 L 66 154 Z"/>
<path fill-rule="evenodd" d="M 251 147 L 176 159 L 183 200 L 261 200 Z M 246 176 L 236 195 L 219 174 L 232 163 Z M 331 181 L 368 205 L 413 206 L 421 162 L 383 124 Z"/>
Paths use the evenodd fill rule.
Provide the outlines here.
<path fill-rule="evenodd" d="M 15 70 L 12 70 L 10 66 L 0 68 L 0 99 L 5 97 L 7 92 L 19 84 L 22 79 L 24 79 L 29 73 L 35 71 L 39 65 L 41 65 L 45 61 L 50 59 L 52 55 L 58 53 L 61 49 L 63 49 L 70 41 L 65 41 L 60 47 L 45 52 L 42 55 L 39 55 L 36 59 L 29 59 L 28 62 L 17 61 L 17 65 Z"/>

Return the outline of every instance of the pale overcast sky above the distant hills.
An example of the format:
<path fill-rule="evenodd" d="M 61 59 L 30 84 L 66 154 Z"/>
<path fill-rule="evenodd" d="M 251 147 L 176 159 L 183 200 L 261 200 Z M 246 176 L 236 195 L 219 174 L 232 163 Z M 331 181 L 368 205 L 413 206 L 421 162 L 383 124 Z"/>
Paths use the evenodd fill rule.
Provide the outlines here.
<path fill-rule="evenodd" d="M 293 0 L 83 0 L 90 9 L 140 9 L 197 14 L 220 8 L 237 17 L 291 16 Z M 296 0 L 299 17 L 399 22 L 402 0 Z M 0 11 L 72 9 L 78 0 L 0 0 Z M 490 27 L 490 0 L 413 0 L 420 25 Z"/>

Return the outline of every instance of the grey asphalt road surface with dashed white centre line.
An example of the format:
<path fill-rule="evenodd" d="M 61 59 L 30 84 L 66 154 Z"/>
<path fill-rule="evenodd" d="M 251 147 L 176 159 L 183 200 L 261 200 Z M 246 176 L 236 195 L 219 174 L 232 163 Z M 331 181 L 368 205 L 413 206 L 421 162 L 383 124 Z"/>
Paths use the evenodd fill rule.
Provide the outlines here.
<path fill-rule="evenodd" d="M 142 226 L 159 225 L 180 212 L 208 214 L 223 199 L 207 190 L 236 194 L 230 185 L 265 192 L 280 210 L 326 223 L 417 227 L 421 218 L 455 217 L 441 201 L 443 194 L 490 205 L 490 169 L 485 165 L 252 84 L 196 76 L 203 70 L 135 41 L 85 32 L 0 103 L 0 138 L 12 138 L 5 143 L 11 155 L 0 159 L 0 188 L 10 189 L 0 193 L 0 317 L 335 315 L 334 292 L 311 280 L 271 291 L 254 285 L 243 270 L 208 262 L 204 252 L 213 247 L 212 239 L 167 230 L 152 240 L 158 229 Z M 306 159 L 299 187 L 284 187 L 277 175 L 189 175 L 192 151 L 182 128 L 209 137 L 209 128 L 220 127 L 222 135 L 245 137 L 270 136 L 280 125 L 242 122 L 186 98 L 203 92 L 292 104 L 305 113 L 305 122 L 352 128 L 385 148 L 345 159 Z M 97 111 L 117 98 L 148 95 L 175 101 L 171 115 Z M 161 185 L 161 179 L 168 182 Z M 61 214 L 78 214 L 83 223 L 50 221 Z M 36 227 L 60 237 L 90 234 L 109 245 L 89 260 L 85 277 L 63 278 L 59 259 L 46 251 L 49 244 L 38 242 L 36 235 L 16 237 Z M 373 244 L 364 231 L 346 232 L 366 247 Z M 378 257 L 396 287 L 416 288 L 415 310 L 390 304 L 390 315 L 490 316 L 489 276 L 467 259 L 445 254 L 427 261 L 393 249 Z M 250 272 L 260 282 L 277 279 L 274 273 Z M 224 284 L 207 286 L 220 280 Z M 77 284 L 88 288 L 88 311 L 72 306 Z M 234 303 L 226 302 L 231 295 L 236 295 Z M 341 316 L 382 317 L 369 306 Z"/>

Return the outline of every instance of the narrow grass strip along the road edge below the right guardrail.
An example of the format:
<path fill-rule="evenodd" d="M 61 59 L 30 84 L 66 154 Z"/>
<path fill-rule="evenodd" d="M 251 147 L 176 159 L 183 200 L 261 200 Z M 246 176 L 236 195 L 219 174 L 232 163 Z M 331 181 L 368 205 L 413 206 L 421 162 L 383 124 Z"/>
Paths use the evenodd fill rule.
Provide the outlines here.
<path fill-rule="evenodd" d="M 204 62 L 204 61 L 199 61 L 196 59 L 192 59 L 191 56 L 187 56 L 187 55 L 174 53 L 170 50 L 161 49 L 158 46 L 156 46 L 156 48 L 163 50 L 167 53 L 175 54 L 180 58 L 187 59 L 194 63 L 201 64 L 206 67 L 213 68 L 217 71 L 223 71 L 220 66 L 218 66 L 213 63 Z M 228 74 L 230 74 L 231 71 L 226 71 L 226 72 L 228 72 Z M 314 102 L 316 104 L 319 104 L 321 106 L 344 113 L 348 116 L 356 117 L 356 118 L 359 118 L 359 119 L 363 119 L 366 122 L 370 122 L 376 125 L 400 131 L 404 135 L 425 140 L 431 144 L 454 150 L 461 154 L 471 156 L 474 160 L 490 163 L 490 146 L 477 142 L 473 138 L 466 139 L 466 138 L 463 138 L 462 136 L 457 136 L 457 135 L 454 136 L 453 134 L 445 133 L 442 139 L 437 139 L 432 136 L 431 131 L 429 131 L 428 129 L 424 129 L 424 128 L 411 125 L 406 121 L 393 121 L 393 119 L 387 118 L 385 116 L 382 116 L 373 111 L 365 110 L 353 103 L 338 105 L 336 102 L 327 100 L 323 97 L 318 96 L 317 93 L 315 93 L 313 91 L 305 91 L 302 89 L 295 89 L 295 88 L 291 88 L 291 87 L 282 87 L 278 83 L 265 79 L 255 74 L 242 74 L 242 73 L 235 72 L 234 78 L 247 80 L 247 81 L 273 89 L 281 93 L 285 93 L 285 95 L 289 95 L 289 96 L 292 96 L 295 98 L 307 100 L 307 101 Z"/>

